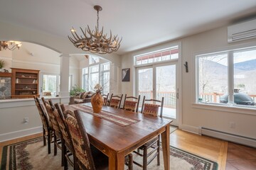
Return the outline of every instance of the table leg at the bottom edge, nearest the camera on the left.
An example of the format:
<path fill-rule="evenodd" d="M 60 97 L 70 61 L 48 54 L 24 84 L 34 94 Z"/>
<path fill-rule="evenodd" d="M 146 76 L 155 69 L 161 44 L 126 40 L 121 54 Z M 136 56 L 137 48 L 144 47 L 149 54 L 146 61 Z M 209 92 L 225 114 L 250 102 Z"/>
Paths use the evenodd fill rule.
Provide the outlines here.
<path fill-rule="evenodd" d="M 109 155 L 109 169 L 110 170 L 124 170 L 124 154 L 111 153 Z"/>

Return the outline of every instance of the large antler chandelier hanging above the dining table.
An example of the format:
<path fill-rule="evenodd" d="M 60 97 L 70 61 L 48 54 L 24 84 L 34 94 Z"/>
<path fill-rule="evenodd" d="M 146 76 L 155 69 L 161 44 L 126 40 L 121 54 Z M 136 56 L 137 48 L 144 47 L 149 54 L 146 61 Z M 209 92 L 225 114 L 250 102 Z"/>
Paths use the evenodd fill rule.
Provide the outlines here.
<path fill-rule="evenodd" d="M 112 32 L 110 30 L 110 38 L 107 38 L 107 34 L 103 35 L 103 27 L 102 30 L 99 31 L 99 11 L 102 11 L 101 6 L 94 6 L 97 11 L 97 26 L 95 26 L 95 30 L 90 30 L 89 26 L 82 30 L 82 35 L 78 36 L 75 32 L 75 29 L 71 29 L 71 33 L 73 38 L 70 39 L 71 42 L 75 45 L 75 47 L 81 48 L 84 51 L 89 51 L 92 53 L 98 54 L 107 54 L 111 52 L 116 52 L 120 47 L 120 42 L 122 41 L 117 38 L 117 35 L 112 36 Z"/>

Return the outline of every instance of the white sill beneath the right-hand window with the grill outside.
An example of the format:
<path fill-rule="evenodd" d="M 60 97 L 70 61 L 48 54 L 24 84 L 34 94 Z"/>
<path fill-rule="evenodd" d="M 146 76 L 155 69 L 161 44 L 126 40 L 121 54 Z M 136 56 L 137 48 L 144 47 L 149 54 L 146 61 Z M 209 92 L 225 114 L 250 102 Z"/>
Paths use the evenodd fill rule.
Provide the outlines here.
<path fill-rule="evenodd" d="M 256 108 L 245 108 L 241 106 L 228 106 L 213 103 L 192 103 L 193 108 L 207 109 L 211 111 L 221 111 L 230 113 L 240 113 L 247 115 L 256 115 Z"/>

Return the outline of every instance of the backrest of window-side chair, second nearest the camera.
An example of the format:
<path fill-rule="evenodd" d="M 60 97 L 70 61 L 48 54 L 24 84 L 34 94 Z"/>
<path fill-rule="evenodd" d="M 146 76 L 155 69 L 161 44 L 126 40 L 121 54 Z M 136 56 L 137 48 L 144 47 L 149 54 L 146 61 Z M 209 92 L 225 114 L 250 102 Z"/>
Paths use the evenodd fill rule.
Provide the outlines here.
<path fill-rule="evenodd" d="M 138 97 L 124 95 L 124 107 L 126 111 L 138 113 L 140 95 Z"/>

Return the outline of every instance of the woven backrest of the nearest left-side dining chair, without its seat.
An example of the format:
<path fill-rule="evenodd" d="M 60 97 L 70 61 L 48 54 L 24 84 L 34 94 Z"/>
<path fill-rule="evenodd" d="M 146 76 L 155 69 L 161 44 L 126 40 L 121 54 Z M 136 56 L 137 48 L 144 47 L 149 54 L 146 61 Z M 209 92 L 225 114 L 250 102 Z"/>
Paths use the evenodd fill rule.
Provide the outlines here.
<path fill-rule="evenodd" d="M 90 142 L 87 137 L 87 132 L 82 123 L 79 111 L 74 111 L 75 118 L 72 115 L 67 115 L 65 122 L 68 125 L 68 130 L 73 141 L 75 156 L 78 159 L 80 169 L 95 170 L 95 164 L 92 159 Z"/>

